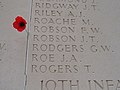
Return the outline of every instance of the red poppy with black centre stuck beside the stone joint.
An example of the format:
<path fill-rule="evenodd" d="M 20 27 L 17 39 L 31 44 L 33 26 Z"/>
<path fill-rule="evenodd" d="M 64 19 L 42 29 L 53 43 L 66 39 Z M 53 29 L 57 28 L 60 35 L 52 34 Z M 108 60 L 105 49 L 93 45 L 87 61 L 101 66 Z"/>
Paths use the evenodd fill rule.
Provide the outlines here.
<path fill-rule="evenodd" d="M 13 23 L 13 27 L 19 32 L 22 32 L 26 28 L 26 24 L 27 22 L 21 16 L 17 16 L 15 18 L 15 22 Z"/>

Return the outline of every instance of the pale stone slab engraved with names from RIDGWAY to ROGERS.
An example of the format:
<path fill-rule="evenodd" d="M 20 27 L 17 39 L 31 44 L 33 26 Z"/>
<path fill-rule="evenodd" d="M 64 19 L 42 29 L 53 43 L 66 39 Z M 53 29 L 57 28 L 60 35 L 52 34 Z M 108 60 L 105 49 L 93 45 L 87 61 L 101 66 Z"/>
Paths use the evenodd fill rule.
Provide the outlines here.
<path fill-rule="evenodd" d="M 119 0 L 33 0 L 26 90 L 119 90 L 119 8 Z"/>

